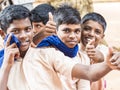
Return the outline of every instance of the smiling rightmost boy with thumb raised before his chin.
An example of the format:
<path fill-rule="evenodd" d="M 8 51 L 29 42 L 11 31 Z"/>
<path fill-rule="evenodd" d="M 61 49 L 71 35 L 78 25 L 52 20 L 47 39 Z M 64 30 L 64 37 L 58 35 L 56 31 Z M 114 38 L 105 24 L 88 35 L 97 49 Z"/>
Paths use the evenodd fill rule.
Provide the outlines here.
<path fill-rule="evenodd" d="M 108 53 L 108 47 L 100 44 L 104 38 L 106 21 L 102 15 L 96 12 L 86 14 L 82 20 L 81 49 L 86 51 L 91 59 L 91 64 L 103 62 Z M 101 58 L 102 57 L 102 58 Z M 100 59 L 98 59 L 100 58 Z M 91 90 L 103 90 L 105 88 L 103 79 L 91 83 Z"/>

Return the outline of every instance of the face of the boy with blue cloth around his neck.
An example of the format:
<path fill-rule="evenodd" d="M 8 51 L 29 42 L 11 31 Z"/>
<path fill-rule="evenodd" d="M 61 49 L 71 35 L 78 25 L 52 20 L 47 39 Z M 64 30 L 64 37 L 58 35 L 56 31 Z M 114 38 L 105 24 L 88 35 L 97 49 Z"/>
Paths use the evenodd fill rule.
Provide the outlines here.
<path fill-rule="evenodd" d="M 61 24 L 58 27 L 57 35 L 66 46 L 74 48 L 80 42 L 80 24 Z"/>

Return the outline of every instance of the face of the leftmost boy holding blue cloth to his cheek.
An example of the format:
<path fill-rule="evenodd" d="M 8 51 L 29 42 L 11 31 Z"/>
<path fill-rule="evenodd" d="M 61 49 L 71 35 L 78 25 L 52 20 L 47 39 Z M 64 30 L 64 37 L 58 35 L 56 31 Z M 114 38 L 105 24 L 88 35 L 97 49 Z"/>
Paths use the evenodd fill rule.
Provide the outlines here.
<path fill-rule="evenodd" d="M 13 33 L 21 42 L 20 51 L 26 51 L 32 41 L 33 30 L 29 18 L 13 20 L 7 29 L 7 34 Z"/>

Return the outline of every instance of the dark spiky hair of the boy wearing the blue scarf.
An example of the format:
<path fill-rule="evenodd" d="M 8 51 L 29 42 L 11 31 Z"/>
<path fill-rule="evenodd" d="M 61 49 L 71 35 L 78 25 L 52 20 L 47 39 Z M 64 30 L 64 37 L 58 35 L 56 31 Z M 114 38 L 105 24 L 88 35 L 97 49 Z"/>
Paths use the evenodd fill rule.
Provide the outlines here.
<path fill-rule="evenodd" d="M 68 4 L 63 4 L 56 9 L 54 21 L 57 27 L 61 24 L 80 24 L 81 17 L 76 8 L 73 8 Z"/>

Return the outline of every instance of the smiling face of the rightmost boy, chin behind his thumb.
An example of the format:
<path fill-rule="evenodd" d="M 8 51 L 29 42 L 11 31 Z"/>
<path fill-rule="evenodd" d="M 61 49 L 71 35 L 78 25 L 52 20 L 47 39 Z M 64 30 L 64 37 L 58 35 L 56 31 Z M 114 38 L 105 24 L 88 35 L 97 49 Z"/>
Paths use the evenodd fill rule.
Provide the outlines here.
<path fill-rule="evenodd" d="M 99 24 L 98 22 L 88 20 L 84 24 L 82 24 L 81 41 L 84 46 L 87 45 L 90 39 L 94 39 L 96 47 L 103 39 L 103 37 L 104 30 L 101 24 Z"/>

